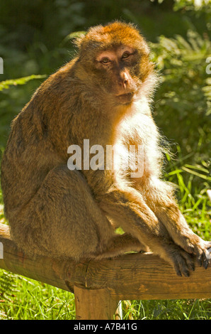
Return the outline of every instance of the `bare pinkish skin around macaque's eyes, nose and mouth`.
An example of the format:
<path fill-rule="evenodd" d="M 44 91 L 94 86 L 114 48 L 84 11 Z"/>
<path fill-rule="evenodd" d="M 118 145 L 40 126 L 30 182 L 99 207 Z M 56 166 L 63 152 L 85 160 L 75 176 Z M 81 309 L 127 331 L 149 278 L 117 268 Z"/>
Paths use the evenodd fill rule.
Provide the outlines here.
<path fill-rule="evenodd" d="M 132 92 L 133 80 L 127 69 L 134 53 L 135 50 L 130 46 L 122 45 L 116 50 L 105 50 L 99 53 L 96 58 L 98 68 L 113 72 L 114 94 L 119 102 L 123 104 L 130 102 L 134 94 Z"/>

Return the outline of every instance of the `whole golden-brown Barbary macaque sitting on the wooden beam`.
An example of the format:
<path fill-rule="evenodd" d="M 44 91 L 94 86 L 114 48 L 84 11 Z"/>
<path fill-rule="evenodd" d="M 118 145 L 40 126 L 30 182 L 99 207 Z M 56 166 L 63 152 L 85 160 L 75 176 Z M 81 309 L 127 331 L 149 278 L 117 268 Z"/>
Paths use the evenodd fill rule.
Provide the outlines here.
<path fill-rule="evenodd" d="M 79 261 L 142 250 L 179 276 L 189 276 L 195 260 L 206 269 L 211 242 L 190 230 L 161 180 L 164 150 L 150 111 L 158 79 L 146 41 L 132 24 L 115 21 L 90 28 L 76 45 L 76 58 L 40 85 L 11 124 L 1 185 L 13 240 L 32 255 Z M 108 168 L 100 156 L 91 168 L 96 147 L 126 161 L 130 146 L 142 151 L 141 173 L 131 163 Z M 73 168 L 76 147 L 81 160 Z"/>

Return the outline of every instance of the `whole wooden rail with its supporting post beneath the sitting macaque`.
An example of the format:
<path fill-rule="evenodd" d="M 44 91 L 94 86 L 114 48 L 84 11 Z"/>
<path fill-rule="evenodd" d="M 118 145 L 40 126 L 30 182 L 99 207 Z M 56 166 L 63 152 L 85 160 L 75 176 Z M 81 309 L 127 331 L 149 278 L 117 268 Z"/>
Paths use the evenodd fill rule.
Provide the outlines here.
<path fill-rule="evenodd" d="M 18 251 L 7 225 L 0 224 L 0 268 L 74 292 L 77 319 L 113 319 L 120 300 L 211 298 L 211 266 L 178 277 L 152 253 L 101 261 L 28 257 Z M 0 253 L 2 254 L 2 252 Z"/>

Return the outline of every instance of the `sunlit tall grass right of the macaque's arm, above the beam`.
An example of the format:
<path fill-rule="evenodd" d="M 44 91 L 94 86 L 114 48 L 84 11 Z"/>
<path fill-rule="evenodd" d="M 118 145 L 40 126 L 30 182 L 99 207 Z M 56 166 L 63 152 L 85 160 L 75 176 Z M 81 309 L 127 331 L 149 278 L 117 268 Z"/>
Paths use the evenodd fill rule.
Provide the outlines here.
<path fill-rule="evenodd" d="M 166 168 L 165 178 L 176 186 L 180 208 L 188 225 L 197 235 L 209 240 L 211 203 L 207 195 L 207 190 L 210 188 L 210 173 L 207 167 L 205 161 L 192 166 L 183 163 L 182 158 L 174 162 L 169 158 L 169 168 Z"/>

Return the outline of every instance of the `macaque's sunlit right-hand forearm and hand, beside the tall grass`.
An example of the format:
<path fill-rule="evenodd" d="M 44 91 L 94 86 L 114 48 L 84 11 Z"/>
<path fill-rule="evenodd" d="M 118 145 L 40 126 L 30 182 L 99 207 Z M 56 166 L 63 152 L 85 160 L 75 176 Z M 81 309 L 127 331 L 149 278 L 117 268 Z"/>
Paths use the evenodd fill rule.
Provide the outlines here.
<path fill-rule="evenodd" d="M 151 181 L 148 185 L 145 185 L 144 194 L 147 205 L 165 225 L 173 241 L 185 249 L 186 252 L 195 254 L 200 265 L 203 265 L 206 269 L 209 263 L 210 253 L 208 249 L 211 247 L 211 242 L 205 242 L 190 230 L 176 200 L 173 198 L 171 187 L 164 181 Z"/>

